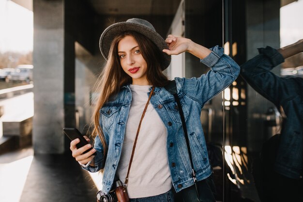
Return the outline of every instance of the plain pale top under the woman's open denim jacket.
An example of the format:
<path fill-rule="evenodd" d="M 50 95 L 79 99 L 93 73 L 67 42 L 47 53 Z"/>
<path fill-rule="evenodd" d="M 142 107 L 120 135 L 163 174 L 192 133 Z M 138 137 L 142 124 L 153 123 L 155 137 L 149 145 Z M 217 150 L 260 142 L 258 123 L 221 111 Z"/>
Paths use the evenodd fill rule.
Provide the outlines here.
<path fill-rule="evenodd" d="M 138 125 L 148 100 L 151 86 L 130 85 L 132 102 L 126 123 L 124 142 L 117 174 L 125 181 Z M 149 103 L 142 120 L 136 150 L 128 176 L 129 198 L 163 194 L 172 186 L 167 157 L 167 129 Z"/>

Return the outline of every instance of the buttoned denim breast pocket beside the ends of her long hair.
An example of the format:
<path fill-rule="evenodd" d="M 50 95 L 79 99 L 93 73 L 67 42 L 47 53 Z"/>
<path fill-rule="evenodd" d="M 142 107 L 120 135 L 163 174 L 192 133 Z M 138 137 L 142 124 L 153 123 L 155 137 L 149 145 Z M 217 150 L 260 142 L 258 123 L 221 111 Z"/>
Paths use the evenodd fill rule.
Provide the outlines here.
<path fill-rule="evenodd" d="M 107 129 L 116 121 L 118 122 L 118 114 L 121 109 L 121 105 L 104 106 L 100 109 L 100 114 L 103 116 L 103 126 Z"/>

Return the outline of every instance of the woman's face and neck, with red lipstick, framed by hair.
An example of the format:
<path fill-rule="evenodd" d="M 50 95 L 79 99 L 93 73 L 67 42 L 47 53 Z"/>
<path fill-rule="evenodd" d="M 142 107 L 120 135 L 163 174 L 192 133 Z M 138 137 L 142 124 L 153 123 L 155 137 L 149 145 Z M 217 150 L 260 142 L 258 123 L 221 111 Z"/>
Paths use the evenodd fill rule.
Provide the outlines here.
<path fill-rule="evenodd" d="M 118 55 L 124 72 L 133 79 L 134 85 L 150 85 L 146 75 L 147 63 L 134 37 L 125 36 L 120 40 Z"/>

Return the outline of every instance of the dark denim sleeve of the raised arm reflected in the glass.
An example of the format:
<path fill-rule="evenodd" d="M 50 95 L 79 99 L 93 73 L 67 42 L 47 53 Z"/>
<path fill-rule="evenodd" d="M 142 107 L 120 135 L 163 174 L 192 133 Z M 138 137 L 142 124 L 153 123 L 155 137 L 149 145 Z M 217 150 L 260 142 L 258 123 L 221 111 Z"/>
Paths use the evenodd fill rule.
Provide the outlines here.
<path fill-rule="evenodd" d="M 284 62 L 283 56 L 274 48 L 258 48 L 259 55 L 241 65 L 241 76 L 255 91 L 277 107 L 295 96 L 298 84 L 295 78 L 281 78 L 270 72 Z"/>

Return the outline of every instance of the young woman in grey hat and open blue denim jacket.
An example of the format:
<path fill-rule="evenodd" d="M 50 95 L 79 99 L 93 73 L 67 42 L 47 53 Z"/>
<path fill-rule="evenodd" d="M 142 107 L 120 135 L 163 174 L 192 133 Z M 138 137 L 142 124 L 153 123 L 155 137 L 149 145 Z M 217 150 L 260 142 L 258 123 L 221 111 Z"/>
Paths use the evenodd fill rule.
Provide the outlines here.
<path fill-rule="evenodd" d="M 201 109 L 237 78 L 240 67 L 221 47 L 208 49 L 173 35 L 163 40 L 148 21 L 138 18 L 109 26 L 101 35 L 100 49 L 107 63 L 94 112 L 94 149 L 83 154 L 91 145 L 77 149 L 79 140 L 74 140 L 73 156 L 88 171 L 103 170 L 102 191 L 108 193 L 114 179 L 125 181 L 139 127 L 125 185 L 130 201 L 171 202 L 172 186 L 179 192 L 194 181 L 178 107 L 164 88 L 168 80 L 162 71 L 170 55 L 187 51 L 211 68 L 200 78 L 175 78 L 197 181 L 212 173 L 198 124 Z"/>

